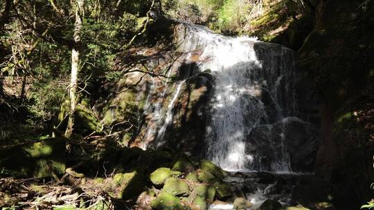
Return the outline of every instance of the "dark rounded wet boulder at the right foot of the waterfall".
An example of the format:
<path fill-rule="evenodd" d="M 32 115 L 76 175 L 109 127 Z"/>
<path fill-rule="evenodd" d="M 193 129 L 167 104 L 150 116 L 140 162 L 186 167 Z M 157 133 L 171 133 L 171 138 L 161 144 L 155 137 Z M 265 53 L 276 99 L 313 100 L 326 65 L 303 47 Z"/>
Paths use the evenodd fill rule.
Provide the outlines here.
<path fill-rule="evenodd" d="M 247 151 L 257 159 L 251 162 L 253 167 L 264 171 L 271 171 L 276 159 L 288 160 L 291 171 L 313 171 L 318 141 L 317 126 L 287 117 L 272 125 L 254 128 L 247 137 Z"/>

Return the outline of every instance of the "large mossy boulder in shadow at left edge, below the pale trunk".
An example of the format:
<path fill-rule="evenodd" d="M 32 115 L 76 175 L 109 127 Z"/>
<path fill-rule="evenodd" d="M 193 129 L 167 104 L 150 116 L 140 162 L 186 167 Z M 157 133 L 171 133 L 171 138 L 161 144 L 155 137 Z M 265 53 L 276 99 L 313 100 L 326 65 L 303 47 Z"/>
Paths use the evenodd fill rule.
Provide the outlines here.
<path fill-rule="evenodd" d="M 17 177 L 51 177 L 65 172 L 66 140 L 55 137 L 0 149 L 0 167 Z"/>

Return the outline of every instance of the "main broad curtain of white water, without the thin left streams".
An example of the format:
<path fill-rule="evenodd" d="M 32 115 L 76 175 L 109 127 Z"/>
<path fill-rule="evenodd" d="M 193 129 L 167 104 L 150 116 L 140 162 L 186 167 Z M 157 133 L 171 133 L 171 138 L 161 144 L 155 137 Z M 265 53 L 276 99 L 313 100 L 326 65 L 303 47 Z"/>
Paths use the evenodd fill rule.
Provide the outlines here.
<path fill-rule="evenodd" d="M 224 37 L 201 26 L 184 27 L 187 30 L 179 35 L 179 50 L 201 50 L 197 66 L 211 70 L 215 78 L 206 157 L 228 171 L 289 171 L 290 158 L 283 143 L 274 146 L 276 157 L 267 167 L 251 151 L 254 148 L 248 147 L 253 128 L 271 126 L 269 121 L 280 120 L 294 110 L 294 93 L 287 84 L 294 74 L 292 50 L 279 50 L 277 45 L 249 37 Z M 264 95 L 273 106 L 272 116 L 262 102 Z"/>

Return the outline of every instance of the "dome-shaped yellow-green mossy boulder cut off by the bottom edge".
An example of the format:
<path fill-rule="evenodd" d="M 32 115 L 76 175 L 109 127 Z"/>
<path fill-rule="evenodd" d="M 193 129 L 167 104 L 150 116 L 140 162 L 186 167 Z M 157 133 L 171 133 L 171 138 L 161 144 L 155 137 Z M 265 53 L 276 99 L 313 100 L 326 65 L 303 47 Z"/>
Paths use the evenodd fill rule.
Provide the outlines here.
<path fill-rule="evenodd" d="M 157 210 L 182 209 L 183 206 L 179 198 L 170 193 L 161 192 L 156 199 L 152 200 L 151 207 Z"/>

